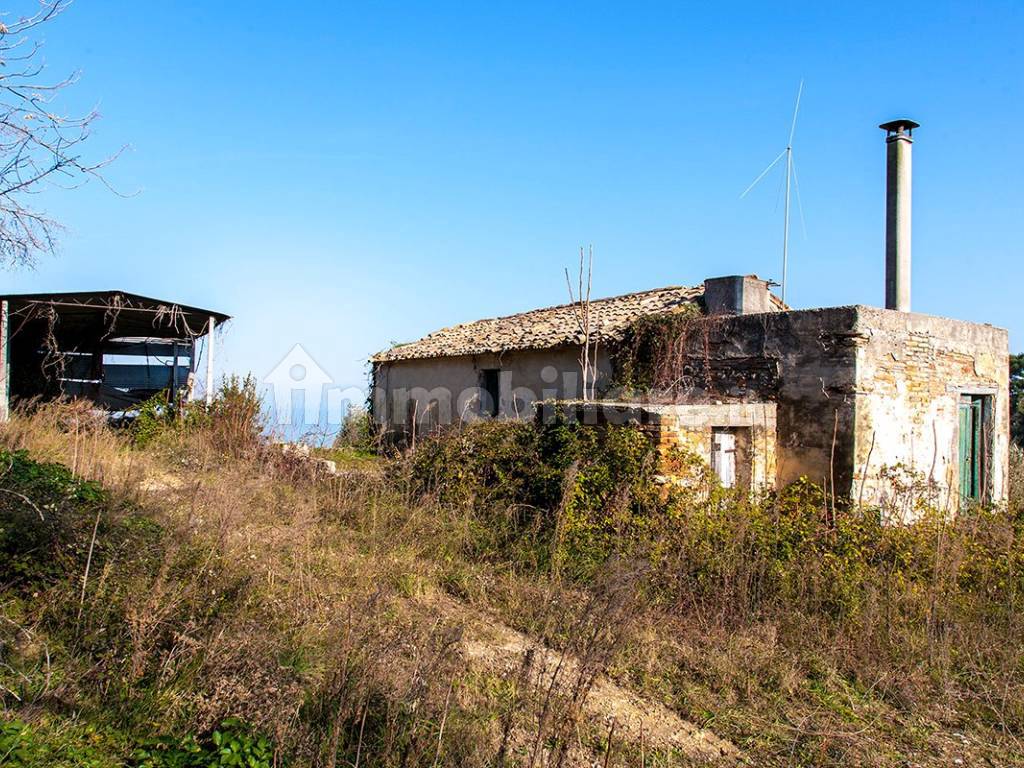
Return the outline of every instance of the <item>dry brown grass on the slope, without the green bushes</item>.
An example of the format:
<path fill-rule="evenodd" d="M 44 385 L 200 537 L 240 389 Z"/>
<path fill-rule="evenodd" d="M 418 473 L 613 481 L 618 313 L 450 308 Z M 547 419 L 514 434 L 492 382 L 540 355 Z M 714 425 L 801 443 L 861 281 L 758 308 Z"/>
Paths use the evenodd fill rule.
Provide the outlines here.
<path fill-rule="evenodd" d="M 202 732 L 240 716 L 302 765 L 602 763 L 609 731 L 610 765 L 707 758 L 652 743 L 642 724 L 601 722 L 586 703 L 607 674 L 652 711 L 731 739 L 752 764 L 1024 764 L 1020 643 L 993 651 L 1021 628 L 986 624 L 984 603 L 948 591 L 947 570 L 972 556 L 949 529 L 931 594 L 879 584 L 863 610 L 823 621 L 744 592 L 770 566 L 751 560 L 749 531 L 726 531 L 731 554 L 711 588 L 687 586 L 695 549 L 674 566 L 612 558 L 593 583 L 572 583 L 480 556 L 475 502 L 420 495 L 408 464 L 323 477 L 258 442 L 225 450 L 246 428 L 171 430 L 137 449 L 87 410 L 60 406 L 0 432 L 0 445 L 101 481 L 168 531 L 159 567 L 132 589 L 108 586 L 118 562 L 90 580 L 85 614 L 97 630 L 117 621 L 104 603 L 123 605 L 125 660 L 69 668 L 48 695 L 88 701 L 89 685 L 105 680 L 158 729 Z M 1013 476 L 1019 503 L 1019 455 Z M 1013 549 L 1014 532 L 1004 534 Z M 666 600 L 666 580 L 688 599 Z M 928 632 L 894 621 L 929 601 Z M 538 677 L 540 646 L 527 642 L 511 664 L 480 663 L 466 648 L 481 622 L 573 662 Z M 45 636 L 41 625 L 26 630 Z"/>

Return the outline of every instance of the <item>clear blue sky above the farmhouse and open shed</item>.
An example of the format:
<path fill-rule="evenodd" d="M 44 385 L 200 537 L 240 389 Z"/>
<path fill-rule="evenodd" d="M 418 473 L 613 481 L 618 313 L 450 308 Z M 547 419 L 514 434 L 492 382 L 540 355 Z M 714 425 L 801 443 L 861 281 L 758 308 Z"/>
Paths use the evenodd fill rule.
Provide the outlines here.
<path fill-rule="evenodd" d="M 24 5 L 28 8 L 28 4 Z M 98 103 L 129 199 L 46 195 L 60 253 L 7 291 L 120 288 L 234 316 L 220 362 L 302 343 L 340 385 L 436 328 L 706 276 L 777 279 L 796 159 L 798 307 L 883 300 L 884 141 L 914 144 L 913 305 L 1024 349 L 1020 2 L 80 0 L 46 58 Z"/>

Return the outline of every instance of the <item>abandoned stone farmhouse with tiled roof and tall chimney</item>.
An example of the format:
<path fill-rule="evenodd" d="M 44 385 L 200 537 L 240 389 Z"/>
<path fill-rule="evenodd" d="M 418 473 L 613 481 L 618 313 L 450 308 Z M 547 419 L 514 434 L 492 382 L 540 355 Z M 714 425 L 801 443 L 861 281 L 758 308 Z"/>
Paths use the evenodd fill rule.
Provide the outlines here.
<path fill-rule="evenodd" d="M 663 447 L 700 456 L 730 486 L 806 477 L 841 498 L 885 503 L 897 482 L 915 482 L 948 508 L 1004 500 L 1008 334 L 910 311 L 916 125 L 883 127 L 886 308 L 792 309 L 768 282 L 738 275 L 594 300 L 589 336 L 573 304 L 480 319 L 377 354 L 375 420 L 410 440 L 450 424 L 568 408 L 582 419 L 640 424 Z M 624 346 L 644 323 L 673 317 L 647 375 L 629 380 Z M 581 404 L 585 343 L 596 377 Z"/>

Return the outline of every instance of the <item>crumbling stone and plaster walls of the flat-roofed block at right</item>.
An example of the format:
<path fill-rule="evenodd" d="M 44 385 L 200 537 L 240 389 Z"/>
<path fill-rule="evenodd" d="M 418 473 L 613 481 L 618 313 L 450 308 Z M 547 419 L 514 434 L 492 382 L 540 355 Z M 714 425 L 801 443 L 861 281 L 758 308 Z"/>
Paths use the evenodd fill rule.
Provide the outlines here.
<path fill-rule="evenodd" d="M 806 476 L 839 498 L 891 506 L 889 476 L 898 467 L 906 479 L 925 480 L 930 501 L 955 507 L 957 408 L 968 393 L 991 397 L 986 490 L 989 500 L 1006 498 L 1001 329 L 849 306 L 700 318 L 681 343 L 678 383 L 657 399 L 774 402 L 778 486 Z"/>

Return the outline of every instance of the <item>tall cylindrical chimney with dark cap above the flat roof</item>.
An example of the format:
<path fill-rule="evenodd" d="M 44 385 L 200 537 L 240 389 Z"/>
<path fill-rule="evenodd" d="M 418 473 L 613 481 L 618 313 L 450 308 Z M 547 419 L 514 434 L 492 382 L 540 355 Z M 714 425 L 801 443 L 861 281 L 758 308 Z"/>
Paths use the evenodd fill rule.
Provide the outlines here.
<path fill-rule="evenodd" d="M 886 309 L 910 311 L 910 147 L 918 124 L 894 120 L 886 132 Z"/>

